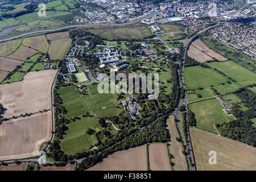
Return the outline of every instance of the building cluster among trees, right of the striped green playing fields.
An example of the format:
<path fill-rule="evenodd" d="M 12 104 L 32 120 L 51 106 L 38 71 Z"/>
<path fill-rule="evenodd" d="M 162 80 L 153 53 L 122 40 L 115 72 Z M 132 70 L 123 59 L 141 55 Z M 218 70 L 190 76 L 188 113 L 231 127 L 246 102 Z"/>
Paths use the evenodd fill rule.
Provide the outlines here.
<path fill-rule="evenodd" d="M 139 114 L 139 110 L 141 110 L 141 106 L 136 102 L 137 99 L 135 97 L 127 97 L 126 100 L 122 100 L 123 109 L 128 110 L 127 118 L 131 119 L 131 115 Z"/>

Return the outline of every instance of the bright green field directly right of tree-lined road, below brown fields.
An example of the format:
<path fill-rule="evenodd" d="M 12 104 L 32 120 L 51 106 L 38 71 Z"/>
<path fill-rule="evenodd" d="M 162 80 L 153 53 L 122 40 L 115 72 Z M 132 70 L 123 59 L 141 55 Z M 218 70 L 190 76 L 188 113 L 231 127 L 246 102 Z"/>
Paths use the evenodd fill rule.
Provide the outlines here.
<path fill-rule="evenodd" d="M 228 78 L 210 68 L 200 66 L 185 67 L 185 84 L 187 89 L 197 89 L 210 85 L 218 85 L 228 81 Z"/>

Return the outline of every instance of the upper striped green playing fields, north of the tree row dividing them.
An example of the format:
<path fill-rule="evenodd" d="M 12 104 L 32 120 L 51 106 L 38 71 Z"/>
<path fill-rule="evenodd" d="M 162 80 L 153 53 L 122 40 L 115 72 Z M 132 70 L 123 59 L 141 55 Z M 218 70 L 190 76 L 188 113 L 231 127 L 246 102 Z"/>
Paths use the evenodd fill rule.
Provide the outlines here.
<path fill-rule="evenodd" d="M 80 95 L 76 88 L 67 86 L 59 89 L 63 105 L 67 109 L 67 117 L 75 117 L 86 112 L 93 112 L 99 118 L 109 117 L 118 114 L 121 109 L 115 105 L 115 96 L 112 93 L 99 94 L 97 85 L 87 85 L 88 94 Z"/>

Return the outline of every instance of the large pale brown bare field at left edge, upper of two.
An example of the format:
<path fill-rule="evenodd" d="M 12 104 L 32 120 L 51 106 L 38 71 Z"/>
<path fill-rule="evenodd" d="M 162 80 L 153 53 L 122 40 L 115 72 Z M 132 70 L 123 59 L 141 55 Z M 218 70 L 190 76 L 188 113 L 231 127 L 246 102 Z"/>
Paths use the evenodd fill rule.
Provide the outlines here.
<path fill-rule="evenodd" d="M 30 72 L 23 81 L 0 85 L 0 103 L 7 109 L 2 117 L 51 109 L 51 87 L 56 73 L 56 69 Z"/>

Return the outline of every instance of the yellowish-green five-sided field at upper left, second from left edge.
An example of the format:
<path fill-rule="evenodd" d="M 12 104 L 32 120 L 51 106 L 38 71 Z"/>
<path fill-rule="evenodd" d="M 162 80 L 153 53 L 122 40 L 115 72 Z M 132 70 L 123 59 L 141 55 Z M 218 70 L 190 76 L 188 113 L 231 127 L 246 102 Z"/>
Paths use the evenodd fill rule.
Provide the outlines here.
<path fill-rule="evenodd" d="M 46 53 L 48 51 L 48 42 L 46 36 L 32 36 L 31 38 L 25 38 L 22 40 L 22 45 L 34 48 L 40 52 Z"/>

